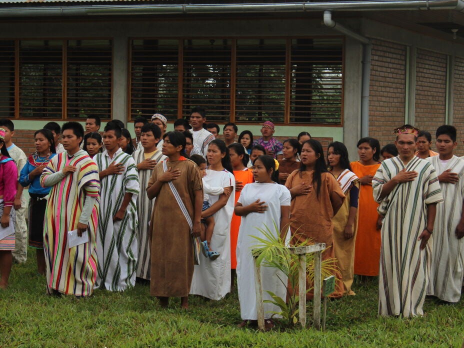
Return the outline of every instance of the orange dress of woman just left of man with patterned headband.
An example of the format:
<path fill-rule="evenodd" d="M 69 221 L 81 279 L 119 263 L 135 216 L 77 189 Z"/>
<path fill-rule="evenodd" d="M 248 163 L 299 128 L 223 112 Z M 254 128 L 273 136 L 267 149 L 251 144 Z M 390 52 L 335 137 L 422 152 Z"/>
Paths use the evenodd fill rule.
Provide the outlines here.
<path fill-rule="evenodd" d="M 361 178 L 375 175 L 380 163 L 362 165 L 351 162 L 351 169 Z M 354 274 L 378 275 L 380 260 L 380 230 L 376 223 L 378 204 L 374 200 L 372 185 L 361 185 L 359 189 L 359 205 L 356 241 L 354 245 Z"/>

